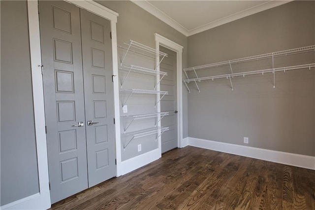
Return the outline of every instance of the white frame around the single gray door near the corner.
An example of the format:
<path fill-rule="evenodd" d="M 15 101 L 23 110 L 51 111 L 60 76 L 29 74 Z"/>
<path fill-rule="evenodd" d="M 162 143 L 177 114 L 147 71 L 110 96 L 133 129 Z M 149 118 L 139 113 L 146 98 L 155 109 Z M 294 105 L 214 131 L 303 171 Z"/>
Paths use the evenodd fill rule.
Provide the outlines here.
<path fill-rule="evenodd" d="M 176 52 L 176 68 L 177 68 L 177 146 L 179 148 L 182 148 L 182 140 L 183 140 L 183 85 L 182 85 L 182 54 L 183 54 L 183 46 L 175 43 L 172 40 L 169 40 L 168 38 L 159 35 L 155 33 L 155 40 L 156 40 L 156 49 L 159 51 L 159 46 L 166 47 L 172 51 Z M 157 65 L 159 63 L 159 60 L 156 59 Z M 157 68 L 159 70 L 159 66 Z M 160 105 L 158 105 L 160 107 Z M 160 110 L 158 110 L 160 111 Z M 158 126 L 160 126 L 160 121 Z M 160 150 L 160 153 L 162 151 L 161 147 L 161 137 L 158 139 L 158 148 Z"/>

